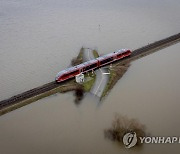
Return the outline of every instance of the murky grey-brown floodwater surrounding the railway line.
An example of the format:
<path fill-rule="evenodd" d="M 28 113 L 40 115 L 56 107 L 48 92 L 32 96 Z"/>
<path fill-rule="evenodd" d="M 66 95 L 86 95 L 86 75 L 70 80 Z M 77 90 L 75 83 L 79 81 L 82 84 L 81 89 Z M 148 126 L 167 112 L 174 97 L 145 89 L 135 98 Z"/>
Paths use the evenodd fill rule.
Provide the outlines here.
<path fill-rule="evenodd" d="M 54 80 L 82 46 L 101 54 L 179 33 L 178 0 L 0 0 L 0 100 Z M 133 62 L 106 99 L 56 94 L 0 117 L 1 154 L 179 153 L 179 144 L 127 150 L 105 139 L 114 114 L 152 136 L 179 136 L 180 44 Z"/>

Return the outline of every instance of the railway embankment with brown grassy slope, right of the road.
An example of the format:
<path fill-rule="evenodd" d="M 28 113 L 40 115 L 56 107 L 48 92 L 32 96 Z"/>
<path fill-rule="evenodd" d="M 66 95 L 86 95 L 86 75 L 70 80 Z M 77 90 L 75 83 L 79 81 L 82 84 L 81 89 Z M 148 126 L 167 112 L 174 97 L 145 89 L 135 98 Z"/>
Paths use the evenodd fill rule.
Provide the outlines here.
<path fill-rule="evenodd" d="M 180 33 L 138 48 L 132 52 L 130 57 L 115 62 L 110 68 L 110 79 L 103 91 L 101 99 L 106 96 L 117 81 L 122 78 L 132 61 L 157 52 L 178 42 L 180 42 Z"/>

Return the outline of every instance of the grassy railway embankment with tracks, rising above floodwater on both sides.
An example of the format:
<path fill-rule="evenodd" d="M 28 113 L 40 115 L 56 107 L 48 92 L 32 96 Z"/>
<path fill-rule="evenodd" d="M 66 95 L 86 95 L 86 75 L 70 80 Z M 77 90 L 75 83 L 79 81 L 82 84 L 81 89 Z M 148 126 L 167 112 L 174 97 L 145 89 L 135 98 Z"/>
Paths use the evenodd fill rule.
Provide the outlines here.
<path fill-rule="evenodd" d="M 146 45 L 142 48 L 136 49 L 133 51 L 130 57 L 124 58 L 112 65 L 112 68 L 110 69 L 110 79 L 107 83 L 107 86 L 104 89 L 104 92 L 101 96 L 103 98 L 108 94 L 108 92 L 113 88 L 113 86 L 116 84 L 116 82 L 123 76 L 123 74 L 127 71 L 130 63 L 133 60 L 142 58 L 144 56 L 147 56 L 151 53 L 154 53 L 162 48 L 165 48 L 167 46 L 173 45 L 175 43 L 178 43 L 180 41 L 180 33 L 170 36 L 168 38 L 162 39 L 160 41 L 151 43 L 149 45 Z M 83 62 L 83 48 L 80 50 L 77 58 L 72 60 L 73 65 L 77 65 Z M 98 57 L 98 52 L 96 50 L 93 51 L 93 54 L 95 57 Z M 32 102 L 35 102 L 41 98 L 50 96 L 55 93 L 64 93 L 68 91 L 85 91 L 89 92 L 92 85 L 94 84 L 96 76 L 87 73 L 85 74 L 86 77 L 90 76 L 91 80 L 81 84 L 77 84 L 74 79 L 70 79 L 68 81 L 65 81 L 60 84 L 56 84 L 54 81 L 50 82 L 48 84 L 45 84 L 43 86 L 31 89 L 29 91 L 26 91 L 22 94 L 13 96 L 9 99 L 3 100 L 0 102 L 0 115 L 3 115 L 7 112 L 10 112 L 12 110 L 15 110 L 19 107 L 22 107 L 24 105 L 30 104 Z"/>

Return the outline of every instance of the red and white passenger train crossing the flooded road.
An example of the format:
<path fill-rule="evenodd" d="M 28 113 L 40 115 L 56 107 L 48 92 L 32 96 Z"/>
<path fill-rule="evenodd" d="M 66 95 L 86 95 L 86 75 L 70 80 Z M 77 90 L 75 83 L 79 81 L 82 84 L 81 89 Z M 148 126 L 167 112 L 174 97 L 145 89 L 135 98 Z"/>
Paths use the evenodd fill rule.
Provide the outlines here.
<path fill-rule="evenodd" d="M 67 68 L 56 75 L 55 81 L 62 82 L 67 79 L 73 78 L 80 73 L 85 73 L 88 71 L 95 70 L 96 68 L 102 67 L 104 65 L 110 64 L 114 61 L 120 60 L 124 57 L 130 56 L 132 53 L 129 49 L 121 49 L 116 52 L 109 53 L 107 55 L 98 57 L 96 59 L 84 62 L 77 66 Z"/>

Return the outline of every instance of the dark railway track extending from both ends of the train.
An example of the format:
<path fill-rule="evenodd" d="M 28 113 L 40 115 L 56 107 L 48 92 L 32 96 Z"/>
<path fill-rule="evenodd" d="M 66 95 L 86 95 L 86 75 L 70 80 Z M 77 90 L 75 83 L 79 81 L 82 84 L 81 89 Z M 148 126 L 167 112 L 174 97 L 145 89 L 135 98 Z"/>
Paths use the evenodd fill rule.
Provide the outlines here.
<path fill-rule="evenodd" d="M 141 47 L 139 49 L 134 50 L 130 57 L 122 59 L 120 61 L 120 63 L 125 63 L 126 61 L 131 61 L 131 60 L 141 58 L 143 56 L 146 56 L 150 53 L 157 51 L 158 49 L 161 49 L 165 46 L 172 45 L 173 43 L 176 43 L 179 41 L 180 41 L 180 33 L 178 33 L 176 35 L 172 35 L 168 38 L 162 39 L 160 41 L 148 44 L 144 47 Z M 154 51 L 152 51 L 152 50 L 154 50 Z M 53 82 L 47 83 L 43 86 L 28 90 L 28 91 L 23 92 L 21 94 L 10 97 L 9 99 L 0 101 L 0 111 L 6 107 L 11 106 L 11 105 L 18 104 L 23 100 L 26 100 L 26 99 L 29 99 L 31 97 L 37 96 L 39 94 L 48 92 L 48 91 L 50 91 L 54 88 L 57 88 L 59 86 L 64 86 L 66 83 L 67 83 L 67 81 L 60 83 L 60 84 L 56 84 L 53 81 Z"/>

